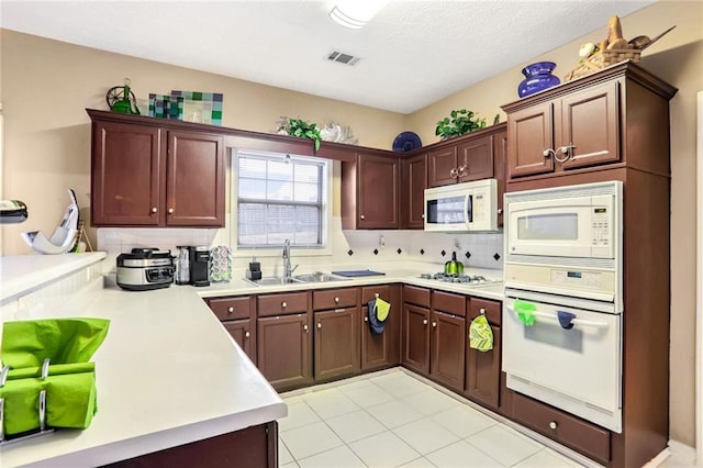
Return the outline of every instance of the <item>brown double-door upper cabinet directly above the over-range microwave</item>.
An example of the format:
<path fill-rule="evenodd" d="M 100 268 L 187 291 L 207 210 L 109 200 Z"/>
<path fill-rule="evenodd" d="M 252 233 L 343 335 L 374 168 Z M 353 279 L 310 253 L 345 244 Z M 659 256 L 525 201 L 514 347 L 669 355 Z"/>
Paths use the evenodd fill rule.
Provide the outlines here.
<path fill-rule="evenodd" d="M 501 178 L 502 142 L 496 135 L 505 124 L 493 125 L 433 145 L 427 153 L 427 186 L 438 187 L 470 180 Z"/>

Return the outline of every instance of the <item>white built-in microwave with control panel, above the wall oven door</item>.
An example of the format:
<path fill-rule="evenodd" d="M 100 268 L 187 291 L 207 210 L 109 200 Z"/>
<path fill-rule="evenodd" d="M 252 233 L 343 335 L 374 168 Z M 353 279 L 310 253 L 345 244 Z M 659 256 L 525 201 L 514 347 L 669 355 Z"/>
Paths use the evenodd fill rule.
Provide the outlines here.
<path fill-rule="evenodd" d="M 622 197 L 621 181 L 506 193 L 505 286 L 622 311 Z"/>

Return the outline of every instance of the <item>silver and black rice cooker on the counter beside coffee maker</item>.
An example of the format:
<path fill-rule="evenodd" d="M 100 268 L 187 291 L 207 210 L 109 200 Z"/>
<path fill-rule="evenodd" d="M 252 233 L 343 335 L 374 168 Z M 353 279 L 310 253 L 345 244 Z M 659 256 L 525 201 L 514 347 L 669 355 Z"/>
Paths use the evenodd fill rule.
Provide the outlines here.
<path fill-rule="evenodd" d="M 118 256 L 118 286 L 130 291 L 168 288 L 174 282 L 171 250 L 133 248 Z"/>

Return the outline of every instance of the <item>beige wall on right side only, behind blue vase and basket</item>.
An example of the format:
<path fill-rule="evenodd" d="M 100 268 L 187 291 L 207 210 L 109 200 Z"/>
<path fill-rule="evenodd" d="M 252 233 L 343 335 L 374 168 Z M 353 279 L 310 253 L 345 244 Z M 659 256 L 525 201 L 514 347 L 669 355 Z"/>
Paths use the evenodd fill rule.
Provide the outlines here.
<path fill-rule="evenodd" d="M 695 93 L 703 90 L 703 2 L 660 1 L 622 19 L 625 37 L 655 36 L 677 27 L 647 48 L 640 65 L 679 88 L 671 100 L 671 438 L 695 445 Z M 558 33 L 558 32 L 555 32 Z M 606 27 L 491 77 L 409 116 L 425 144 L 436 142 L 435 124 L 451 109 L 470 109 L 490 122 L 502 104 L 517 100 L 521 68 L 551 60 L 562 77 L 578 64 L 583 42 L 600 42 Z M 500 57 L 496 57 L 500 59 Z M 467 66 L 470 66 L 467 64 Z M 625 312 L 627 313 L 627 311 Z"/>

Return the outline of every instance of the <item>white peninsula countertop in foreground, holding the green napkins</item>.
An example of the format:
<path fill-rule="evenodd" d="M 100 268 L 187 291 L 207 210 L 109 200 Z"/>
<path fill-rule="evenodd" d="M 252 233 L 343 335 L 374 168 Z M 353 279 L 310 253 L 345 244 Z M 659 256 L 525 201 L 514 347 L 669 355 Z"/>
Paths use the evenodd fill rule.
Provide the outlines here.
<path fill-rule="evenodd" d="M 108 287 L 53 312 L 111 321 L 92 359 L 99 411 L 85 431 L 0 447 L 0 466 L 98 466 L 284 417 L 280 397 L 192 289 Z"/>

